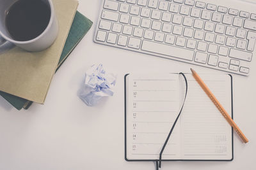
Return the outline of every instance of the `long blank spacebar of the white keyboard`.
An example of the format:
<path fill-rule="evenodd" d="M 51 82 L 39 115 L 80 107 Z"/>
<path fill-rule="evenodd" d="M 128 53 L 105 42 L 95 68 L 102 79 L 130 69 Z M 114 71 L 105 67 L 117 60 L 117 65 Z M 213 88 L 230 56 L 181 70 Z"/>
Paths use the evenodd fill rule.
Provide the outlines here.
<path fill-rule="evenodd" d="M 159 53 L 170 57 L 176 57 L 184 60 L 193 60 L 194 51 L 177 46 L 164 45 L 152 41 L 143 40 L 141 50 L 153 53 Z"/>

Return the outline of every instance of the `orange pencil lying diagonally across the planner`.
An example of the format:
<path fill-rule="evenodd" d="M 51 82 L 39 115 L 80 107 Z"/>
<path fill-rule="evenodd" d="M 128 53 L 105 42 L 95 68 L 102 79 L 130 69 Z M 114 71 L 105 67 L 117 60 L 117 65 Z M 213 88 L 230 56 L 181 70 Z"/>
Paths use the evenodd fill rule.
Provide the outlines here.
<path fill-rule="evenodd" d="M 244 143 L 248 143 L 248 139 L 244 136 L 243 132 L 239 129 L 234 120 L 232 120 L 232 118 L 228 115 L 227 111 L 223 108 L 223 106 L 221 106 L 220 102 L 216 99 L 214 94 L 212 94 L 211 90 L 207 87 L 207 85 L 205 85 L 204 81 L 200 78 L 200 76 L 198 76 L 198 74 L 193 69 L 191 69 L 191 72 L 195 80 L 202 87 L 207 96 L 210 97 L 211 101 L 215 104 L 223 117 L 225 117 L 228 123 L 235 129 L 238 136 L 243 140 Z"/>

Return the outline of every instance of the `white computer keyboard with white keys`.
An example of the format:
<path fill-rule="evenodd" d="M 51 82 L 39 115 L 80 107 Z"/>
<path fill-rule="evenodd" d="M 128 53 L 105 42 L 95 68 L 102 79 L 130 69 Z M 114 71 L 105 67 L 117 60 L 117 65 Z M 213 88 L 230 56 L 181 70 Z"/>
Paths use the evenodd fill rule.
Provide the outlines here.
<path fill-rule="evenodd" d="M 94 41 L 248 76 L 254 9 L 234 0 L 105 0 Z"/>

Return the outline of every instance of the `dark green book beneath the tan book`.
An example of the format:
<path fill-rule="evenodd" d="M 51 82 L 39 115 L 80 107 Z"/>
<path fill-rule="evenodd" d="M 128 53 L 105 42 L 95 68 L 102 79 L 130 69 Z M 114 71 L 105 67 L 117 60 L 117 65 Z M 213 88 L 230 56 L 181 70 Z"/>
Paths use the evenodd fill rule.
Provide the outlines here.
<path fill-rule="evenodd" d="M 76 45 L 79 43 L 79 41 L 81 41 L 81 39 L 91 27 L 92 21 L 84 17 L 81 13 L 79 13 L 79 11 L 77 11 L 72 26 L 70 27 L 68 38 L 61 53 L 61 57 L 58 62 L 56 71 L 60 68 L 61 64 L 63 64 L 65 59 L 67 59 L 68 55 L 72 52 L 72 50 L 74 50 Z M 12 106 L 15 107 L 17 110 L 21 110 L 22 108 L 28 109 L 29 106 L 31 106 L 31 104 L 33 103 L 21 97 L 13 96 L 12 94 L 7 94 L 1 91 L 0 95 L 10 104 L 12 104 Z"/>

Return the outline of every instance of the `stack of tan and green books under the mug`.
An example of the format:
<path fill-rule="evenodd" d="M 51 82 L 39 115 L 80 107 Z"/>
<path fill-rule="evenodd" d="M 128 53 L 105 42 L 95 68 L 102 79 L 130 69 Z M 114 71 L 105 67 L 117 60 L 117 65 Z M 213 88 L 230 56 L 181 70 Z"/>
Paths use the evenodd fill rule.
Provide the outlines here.
<path fill-rule="evenodd" d="M 92 21 L 77 11 L 77 0 L 53 0 L 59 35 L 44 52 L 25 52 L 15 47 L 0 55 L 0 95 L 17 110 L 33 102 L 44 104 L 53 74 L 63 64 Z"/>

